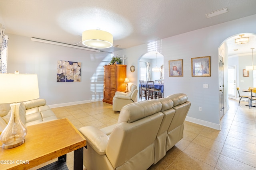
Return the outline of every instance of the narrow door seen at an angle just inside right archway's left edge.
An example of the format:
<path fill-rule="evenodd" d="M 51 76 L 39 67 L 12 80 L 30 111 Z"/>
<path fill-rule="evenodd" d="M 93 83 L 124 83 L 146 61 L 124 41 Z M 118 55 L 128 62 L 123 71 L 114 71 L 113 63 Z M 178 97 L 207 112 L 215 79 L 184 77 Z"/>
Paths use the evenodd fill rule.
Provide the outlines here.
<path fill-rule="evenodd" d="M 223 71 L 223 57 L 219 55 L 219 108 L 220 119 L 224 115 L 224 71 Z"/>

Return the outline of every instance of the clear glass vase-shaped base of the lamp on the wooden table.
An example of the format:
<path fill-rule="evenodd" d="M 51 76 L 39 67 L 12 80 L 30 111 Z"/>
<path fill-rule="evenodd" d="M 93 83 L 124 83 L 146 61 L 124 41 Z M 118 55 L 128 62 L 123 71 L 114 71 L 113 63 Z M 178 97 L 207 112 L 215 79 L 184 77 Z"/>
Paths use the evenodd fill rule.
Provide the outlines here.
<path fill-rule="evenodd" d="M 20 103 L 10 104 L 12 109 L 10 120 L 0 135 L 4 149 L 18 147 L 25 142 L 26 126 L 20 120 Z"/>

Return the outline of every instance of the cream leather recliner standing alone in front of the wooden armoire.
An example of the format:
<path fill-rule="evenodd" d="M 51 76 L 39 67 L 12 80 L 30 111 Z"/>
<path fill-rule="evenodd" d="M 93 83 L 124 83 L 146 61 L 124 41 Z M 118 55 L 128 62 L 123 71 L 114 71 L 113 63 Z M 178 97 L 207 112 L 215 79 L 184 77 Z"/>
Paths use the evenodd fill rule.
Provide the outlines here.
<path fill-rule="evenodd" d="M 113 104 L 112 108 L 114 111 L 120 111 L 122 107 L 124 107 L 127 104 L 134 103 L 136 96 L 138 94 L 138 89 L 135 84 L 132 84 L 130 86 L 130 92 L 124 93 L 124 92 L 116 92 L 115 96 L 113 97 Z"/>

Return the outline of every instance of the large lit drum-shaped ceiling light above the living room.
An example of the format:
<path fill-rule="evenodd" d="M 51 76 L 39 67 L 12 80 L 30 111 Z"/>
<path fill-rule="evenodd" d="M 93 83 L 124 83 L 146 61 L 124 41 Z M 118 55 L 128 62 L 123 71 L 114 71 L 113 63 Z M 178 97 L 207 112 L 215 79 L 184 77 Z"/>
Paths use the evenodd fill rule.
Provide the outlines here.
<path fill-rule="evenodd" d="M 82 43 L 87 47 L 106 49 L 113 46 L 113 35 L 99 29 L 90 29 L 82 33 Z"/>

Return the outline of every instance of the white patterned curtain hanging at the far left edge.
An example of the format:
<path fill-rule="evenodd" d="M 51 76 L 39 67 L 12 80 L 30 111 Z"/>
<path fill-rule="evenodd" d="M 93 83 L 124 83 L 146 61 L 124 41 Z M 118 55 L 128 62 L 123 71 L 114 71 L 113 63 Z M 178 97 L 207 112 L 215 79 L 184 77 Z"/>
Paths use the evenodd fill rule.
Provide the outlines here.
<path fill-rule="evenodd" d="M 0 73 L 7 72 L 8 36 L 4 35 L 4 26 L 0 23 Z"/>

